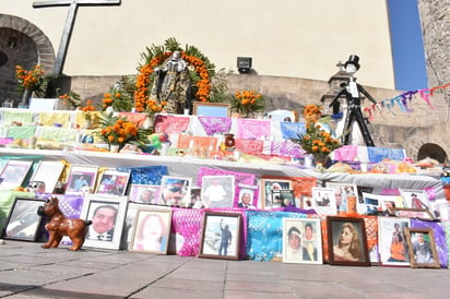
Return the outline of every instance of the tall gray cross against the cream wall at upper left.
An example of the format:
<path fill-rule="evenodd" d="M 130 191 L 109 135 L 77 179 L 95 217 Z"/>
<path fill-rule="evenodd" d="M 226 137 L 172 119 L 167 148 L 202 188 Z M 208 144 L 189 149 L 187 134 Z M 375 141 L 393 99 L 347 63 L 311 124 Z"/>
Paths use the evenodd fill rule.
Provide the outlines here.
<path fill-rule="evenodd" d="M 69 5 L 68 17 L 66 19 L 64 31 L 62 32 L 61 43 L 55 61 L 54 74 L 62 74 L 66 62 L 70 36 L 72 35 L 73 24 L 79 5 L 120 5 L 121 0 L 48 0 L 33 3 L 33 8 L 63 7 Z"/>

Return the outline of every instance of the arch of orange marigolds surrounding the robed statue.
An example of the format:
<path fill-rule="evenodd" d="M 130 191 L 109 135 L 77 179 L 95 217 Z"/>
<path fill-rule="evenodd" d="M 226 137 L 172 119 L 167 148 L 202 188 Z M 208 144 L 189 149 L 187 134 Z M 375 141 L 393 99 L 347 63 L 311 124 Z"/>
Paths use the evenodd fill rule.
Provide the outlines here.
<path fill-rule="evenodd" d="M 164 50 L 165 48 L 167 50 Z M 181 58 L 196 73 L 192 77 L 197 86 L 196 99 L 200 101 L 208 101 L 210 99 L 211 75 L 214 73 L 214 64 L 197 48 L 187 46 L 186 50 L 182 51 L 179 48 L 179 44 L 170 38 L 165 41 L 165 47 L 153 46 L 147 50 L 147 53 L 142 55 L 146 61 L 139 68 L 139 74 L 135 81 L 134 108 L 138 112 L 151 112 L 150 107 L 155 107 L 154 100 L 149 100 L 150 88 L 153 81 L 152 74 L 154 69 L 168 59 L 175 50 L 181 52 Z"/>

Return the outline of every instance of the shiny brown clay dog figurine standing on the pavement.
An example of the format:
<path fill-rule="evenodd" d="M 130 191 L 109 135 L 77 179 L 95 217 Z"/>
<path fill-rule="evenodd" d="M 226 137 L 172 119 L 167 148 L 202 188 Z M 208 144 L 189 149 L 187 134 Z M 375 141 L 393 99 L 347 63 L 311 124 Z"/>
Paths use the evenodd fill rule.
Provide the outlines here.
<path fill-rule="evenodd" d="M 81 249 L 87 234 L 87 227 L 92 222 L 86 222 L 80 218 L 67 218 L 58 206 L 58 198 L 50 198 L 44 206 L 39 206 L 37 214 L 48 216 L 50 219 L 45 225 L 48 230 L 48 242 L 43 244 L 43 248 L 57 248 L 63 236 L 68 236 L 73 246 L 69 250 L 76 251 Z"/>

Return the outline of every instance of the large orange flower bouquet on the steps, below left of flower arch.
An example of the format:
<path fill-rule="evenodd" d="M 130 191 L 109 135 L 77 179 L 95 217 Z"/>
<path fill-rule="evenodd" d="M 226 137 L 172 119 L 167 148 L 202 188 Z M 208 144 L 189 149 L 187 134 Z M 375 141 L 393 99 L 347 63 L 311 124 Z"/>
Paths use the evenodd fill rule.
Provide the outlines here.
<path fill-rule="evenodd" d="M 123 147 L 126 143 L 134 143 L 144 145 L 150 143 L 150 130 L 139 128 L 131 121 L 123 117 L 114 116 L 112 112 L 103 115 L 98 121 L 99 131 L 97 134 L 108 144 L 117 144 L 119 148 Z"/>

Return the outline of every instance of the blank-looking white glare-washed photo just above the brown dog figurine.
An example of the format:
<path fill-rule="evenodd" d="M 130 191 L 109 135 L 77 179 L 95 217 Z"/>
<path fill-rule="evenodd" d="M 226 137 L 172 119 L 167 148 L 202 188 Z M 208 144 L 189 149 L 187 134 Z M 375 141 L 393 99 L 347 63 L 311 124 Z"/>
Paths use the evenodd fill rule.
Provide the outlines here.
<path fill-rule="evenodd" d="M 37 166 L 31 179 L 33 182 L 44 182 L 45 192 L 54 193 L 55 187 L 64 170 L 64 164 L 61 160 L 42 160 Z"/>

